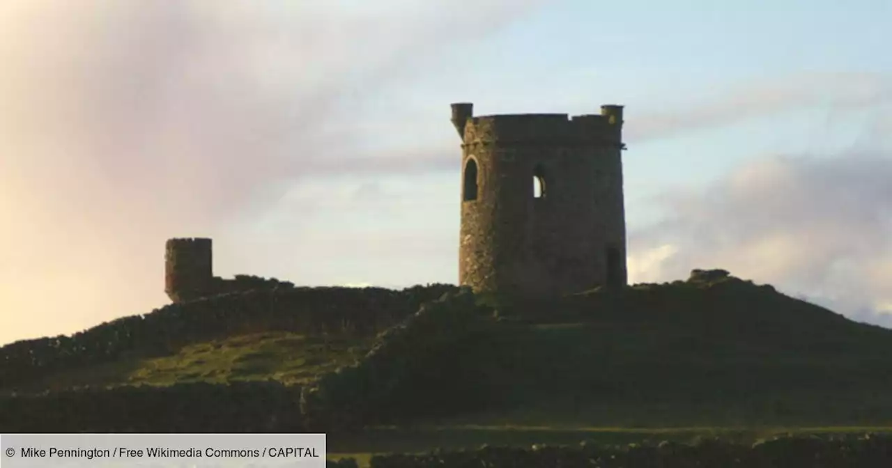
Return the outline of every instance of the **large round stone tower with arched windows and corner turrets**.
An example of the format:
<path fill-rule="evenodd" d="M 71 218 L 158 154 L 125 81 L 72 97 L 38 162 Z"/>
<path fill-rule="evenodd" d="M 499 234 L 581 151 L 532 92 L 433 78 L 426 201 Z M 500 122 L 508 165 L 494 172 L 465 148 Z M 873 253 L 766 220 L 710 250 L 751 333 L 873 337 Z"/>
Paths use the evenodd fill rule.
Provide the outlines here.
<path fill-rule="evenodd" d="M 626 283 L 623 106 L 600 114 L 474 117 L 462 139 L 458 282 L 562 295 Z"/>

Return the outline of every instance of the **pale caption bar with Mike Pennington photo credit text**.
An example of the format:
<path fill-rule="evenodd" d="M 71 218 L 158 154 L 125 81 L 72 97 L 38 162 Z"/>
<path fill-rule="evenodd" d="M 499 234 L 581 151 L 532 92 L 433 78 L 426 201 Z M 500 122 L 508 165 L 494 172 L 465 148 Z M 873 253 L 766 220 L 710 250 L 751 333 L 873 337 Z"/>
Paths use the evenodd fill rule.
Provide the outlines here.
<path fill-rule="evenodd" d="M 325 434 L 3 434 L 3 468 L 325 468 Z"/>

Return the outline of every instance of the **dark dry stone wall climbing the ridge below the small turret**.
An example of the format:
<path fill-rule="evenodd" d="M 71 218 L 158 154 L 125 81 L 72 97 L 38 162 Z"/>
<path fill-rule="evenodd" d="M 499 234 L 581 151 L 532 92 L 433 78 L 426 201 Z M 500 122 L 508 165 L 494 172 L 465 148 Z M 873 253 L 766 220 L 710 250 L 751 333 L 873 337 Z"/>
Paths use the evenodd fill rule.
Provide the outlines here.
<path fill-rule="evenodd" d="M 239 333 L 376 333 L 449 291 L 458 287 L 430 284 L 401 291 L 285 287 L 170 304 L 70 336 L 17 341 L 0 348 L 0 390 L 15 390 L 61 369 L 126 355 L 165 355 L 189 343 Z"/>

